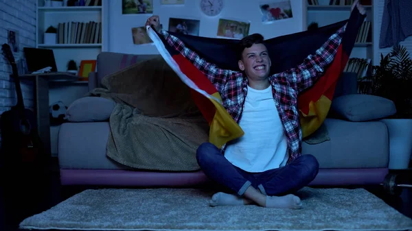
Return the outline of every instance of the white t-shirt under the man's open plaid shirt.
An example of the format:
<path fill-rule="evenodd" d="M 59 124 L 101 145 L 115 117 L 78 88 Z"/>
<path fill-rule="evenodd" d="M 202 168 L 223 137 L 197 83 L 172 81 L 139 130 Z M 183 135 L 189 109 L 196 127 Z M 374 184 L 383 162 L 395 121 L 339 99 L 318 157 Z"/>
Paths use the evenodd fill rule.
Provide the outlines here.
<path fill-rule="evenodd" d="M 242 119 L 244 136 L 228 143 L 225 158 L 251 173 L 277 169 L 288 161 L 288 143 L 273 100 L 272 86 L 255 90 L 248 86 Z"/>

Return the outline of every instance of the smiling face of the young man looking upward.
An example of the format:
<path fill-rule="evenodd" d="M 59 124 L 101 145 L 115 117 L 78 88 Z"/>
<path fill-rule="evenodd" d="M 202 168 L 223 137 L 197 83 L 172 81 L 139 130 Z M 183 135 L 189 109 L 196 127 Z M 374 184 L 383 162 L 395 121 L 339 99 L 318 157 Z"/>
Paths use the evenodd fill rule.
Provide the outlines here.
<path fill-rule="evenodd" d="M 266 46 L 258 43 L 244 49 L 242 60 L 239 60 L 238 65 L 239 69 L 252 80 L 266 79 L 271 69 L 271 59 Z"/>

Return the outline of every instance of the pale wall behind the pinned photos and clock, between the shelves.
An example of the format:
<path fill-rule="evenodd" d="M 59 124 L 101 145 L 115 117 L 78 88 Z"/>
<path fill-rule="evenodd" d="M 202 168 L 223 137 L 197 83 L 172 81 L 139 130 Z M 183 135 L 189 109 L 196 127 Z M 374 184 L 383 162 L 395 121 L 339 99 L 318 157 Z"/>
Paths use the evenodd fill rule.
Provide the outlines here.
<path fill-rule="evenodd" d="M 270 2 L 266 1 L 266 2 Z M 293 19 L 284 19 L 272 24 L 261 22 L 262 14 L 257 0 L 224 0 L 224 9 L 218 16 L 205 16 L 200 10 L 200 0 L 185 0 L 185 5 L 160 5 L 153 0 L 153 14 L 161 17 L 164 29 L 168 29 L 169 18 L 197 19 L 201 21 L 199 36 L 216 38 L 219 19 L 238 19 L 250 21 L 249 34 L 260 33 L 264 38 L 274 38 L 306 30 L 306 0 L 292 0 Z M 122 15 L 122 1 L 109 3 L 109 45 L 108 51 L 120 53 L 158 53 L 153 45 L 134 45 L 132 27 L 144 26 L 151 14 Z"/>

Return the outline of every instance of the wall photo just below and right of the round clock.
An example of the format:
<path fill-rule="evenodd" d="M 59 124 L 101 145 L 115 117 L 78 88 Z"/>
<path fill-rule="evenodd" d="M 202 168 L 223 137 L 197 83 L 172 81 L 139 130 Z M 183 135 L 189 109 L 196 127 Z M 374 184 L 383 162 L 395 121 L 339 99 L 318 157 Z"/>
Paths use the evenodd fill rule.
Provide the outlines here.
<path fill-rule="evenodd" d="M 242 39 L 243 37 L 248 36 L 250 27 L 251 23 L 249 22 L 219 19 L 217 36 Z"/>

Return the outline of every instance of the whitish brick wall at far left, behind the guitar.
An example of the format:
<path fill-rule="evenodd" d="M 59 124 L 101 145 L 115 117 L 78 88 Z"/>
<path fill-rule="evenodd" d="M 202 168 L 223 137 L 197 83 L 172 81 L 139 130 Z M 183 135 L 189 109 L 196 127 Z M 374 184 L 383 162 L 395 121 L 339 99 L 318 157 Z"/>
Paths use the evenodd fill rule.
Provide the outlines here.
<path fill-rule="evenodd" d="M 0 45 L 8 42 L 8 29 L 18 33 L 19 51 L 14 59 L 20 60 L 23 47 L 36 46 L 36 1 L 37 0 L 3 0 L 0 1 Z M 10 110 L 16 104 L 14 82 L 10 82 L 12 67 L 0 52 L 0 114 Z M 33 84 L 22 82 L 23 101 L 26 108 L 33 109 Z M 0 131 L 1 132 L 1 131 Z M 0 138 L 1 145 L 1 138 Z"/>

